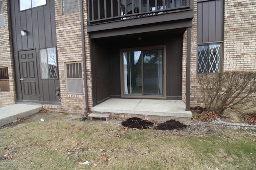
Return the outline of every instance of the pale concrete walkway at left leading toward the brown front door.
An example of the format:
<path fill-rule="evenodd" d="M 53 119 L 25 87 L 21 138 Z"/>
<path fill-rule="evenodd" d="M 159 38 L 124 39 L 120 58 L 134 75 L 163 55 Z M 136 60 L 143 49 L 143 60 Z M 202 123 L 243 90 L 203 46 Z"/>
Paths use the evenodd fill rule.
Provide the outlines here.
<path fill-rule="evenodd" d="M 0 107 L 0 127 L 12 123 L 20 117 L 30 116 L 42 109 L 43 105 L 36 104 L 14 104 Z"/>

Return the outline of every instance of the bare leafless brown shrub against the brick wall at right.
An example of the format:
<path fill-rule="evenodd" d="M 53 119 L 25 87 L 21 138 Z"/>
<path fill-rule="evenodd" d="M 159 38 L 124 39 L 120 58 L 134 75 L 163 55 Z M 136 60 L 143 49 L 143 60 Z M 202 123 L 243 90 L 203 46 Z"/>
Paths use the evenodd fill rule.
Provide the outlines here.
<path fill-rule="evenodd" d="M 256 106 L 256 72 L 204 73 L 198 75 L 198 83 L 207 111 L 222 115 L 234 106 Z"/>

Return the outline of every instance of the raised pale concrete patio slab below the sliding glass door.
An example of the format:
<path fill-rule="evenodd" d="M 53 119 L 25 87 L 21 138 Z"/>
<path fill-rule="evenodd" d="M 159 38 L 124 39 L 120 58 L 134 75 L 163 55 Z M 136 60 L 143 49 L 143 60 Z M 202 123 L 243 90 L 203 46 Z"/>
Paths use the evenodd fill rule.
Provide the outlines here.
<path fill-rule="evenodd" d="M 92 111 L 191 118 L 191 111 L 185 111 L 185 107 L 181 100 L 111 98 L 92 107 Z"/>

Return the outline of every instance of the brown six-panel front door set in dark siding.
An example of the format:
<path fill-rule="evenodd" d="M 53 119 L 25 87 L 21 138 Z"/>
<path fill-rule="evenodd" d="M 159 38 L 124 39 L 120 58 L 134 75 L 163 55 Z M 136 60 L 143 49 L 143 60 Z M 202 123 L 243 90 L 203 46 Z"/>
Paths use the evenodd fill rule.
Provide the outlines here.
<path fill-rule="evenodd" d="M 19 51 L 22 100 L 39 100 L 35 50 Z"/>

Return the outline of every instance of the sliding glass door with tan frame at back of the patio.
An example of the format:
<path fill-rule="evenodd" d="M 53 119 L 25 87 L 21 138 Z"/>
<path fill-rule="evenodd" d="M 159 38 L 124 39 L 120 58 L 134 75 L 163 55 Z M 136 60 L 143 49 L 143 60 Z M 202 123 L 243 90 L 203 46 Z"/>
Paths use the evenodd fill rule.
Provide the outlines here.
<path fill-rule="evenodd" d="M 164 98 L 165 48 L 163 46 L 121 50 L 123 97 Z"/>

